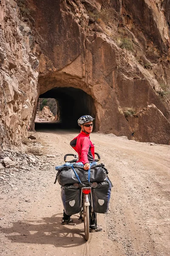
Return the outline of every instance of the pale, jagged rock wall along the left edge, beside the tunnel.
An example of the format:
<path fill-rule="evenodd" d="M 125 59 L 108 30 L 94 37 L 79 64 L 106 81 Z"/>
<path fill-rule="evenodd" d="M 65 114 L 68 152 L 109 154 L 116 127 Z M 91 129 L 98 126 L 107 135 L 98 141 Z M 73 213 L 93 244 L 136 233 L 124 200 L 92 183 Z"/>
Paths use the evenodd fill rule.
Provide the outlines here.
<path fill-rule="evenodd" d="M 34 35 L 13 0 L 0 1 L 0 145 L 20 145 L 37 100 Z"/>

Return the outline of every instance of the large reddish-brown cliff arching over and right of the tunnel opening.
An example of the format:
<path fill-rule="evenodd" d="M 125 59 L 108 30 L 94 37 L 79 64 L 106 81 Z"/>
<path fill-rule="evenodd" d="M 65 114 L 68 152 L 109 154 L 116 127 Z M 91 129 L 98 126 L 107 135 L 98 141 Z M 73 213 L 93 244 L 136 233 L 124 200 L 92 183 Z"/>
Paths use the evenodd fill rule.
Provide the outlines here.
<path fill-rule="evenodd" d="M 98 131 L 169 144 L 168 1 L 29 3 L 42 49 L 39 93 L 65 84 L 82 89 L 95 100 Z M 162 113 L 164 136 L 143 111 L 150 105 L 150 113 Z M 128 108 L 142 114 L 126 116 Z"/>

